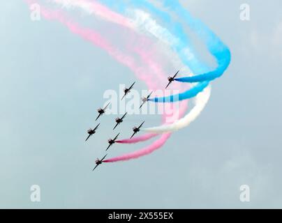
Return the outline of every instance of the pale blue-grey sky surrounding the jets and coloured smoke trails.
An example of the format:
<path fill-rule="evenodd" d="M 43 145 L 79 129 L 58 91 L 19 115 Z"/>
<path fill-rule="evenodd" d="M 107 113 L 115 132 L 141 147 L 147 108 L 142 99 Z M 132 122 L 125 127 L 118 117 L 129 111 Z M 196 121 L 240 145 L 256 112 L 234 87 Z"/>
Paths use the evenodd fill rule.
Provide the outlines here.
<path fill-rule="evenodd" d="M 281 208 L 282 3 L 246 1 L 242 22 L 245 1 L 182 2 L 230 47 L 230 68 L 200 118 L 161 150 L 96 172 L 114 116 L 87 144 L 85 131 L 103 91 L 135 77 L 57 22 L 31 22 L 23 1 L 0 3 L 0 208 Z M 115 145 L 110 156 L 146 144 Z M 34 184 L 40 203 L 29 199 Z M 250 203 L 239 201 L 244 184 Z"/>

